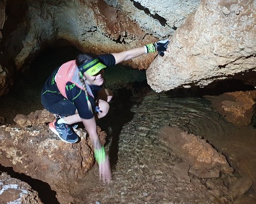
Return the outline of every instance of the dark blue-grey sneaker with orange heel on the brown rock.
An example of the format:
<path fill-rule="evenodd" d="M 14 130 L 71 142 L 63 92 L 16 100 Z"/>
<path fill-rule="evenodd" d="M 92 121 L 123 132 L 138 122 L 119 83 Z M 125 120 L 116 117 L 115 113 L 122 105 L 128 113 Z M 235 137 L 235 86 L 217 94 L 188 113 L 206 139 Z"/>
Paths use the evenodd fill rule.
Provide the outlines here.
<path fill-rule="evenodd" d="M 73 132 L 67 123 L 57 123 L 56 118 L 53 122 L 49 124 L 50 130 L 57 135 L 63 142 L 76 143 L 78 141 L 78 135 Z"/>

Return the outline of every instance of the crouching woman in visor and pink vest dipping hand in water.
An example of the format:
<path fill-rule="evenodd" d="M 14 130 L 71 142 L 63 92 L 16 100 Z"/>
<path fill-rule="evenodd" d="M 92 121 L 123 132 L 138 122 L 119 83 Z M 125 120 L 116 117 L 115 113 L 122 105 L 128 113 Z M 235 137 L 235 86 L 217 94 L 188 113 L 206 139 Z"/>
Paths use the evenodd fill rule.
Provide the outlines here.
<path fill-rule="evenodd" d="M 76 143 L 78 135 L 73 131 L 82 122 L 94 147 L 94 157 L 99 165 L 99 177 L 103 183 L 111 181 L 110 162 L 101 146 L 96 119 L 109 111 L 112 92 L 103 88 L 104 68 L 136 58 L 142 54 L 158 53 L 163 56 L 168 40 L 161 40 L 120 53 L 99 56 L 80 54 L 76 60 L 57 67 L 46 81 L 41 92 L 41 103 L 55 115 L 50 130 L 62 141 Z"/>

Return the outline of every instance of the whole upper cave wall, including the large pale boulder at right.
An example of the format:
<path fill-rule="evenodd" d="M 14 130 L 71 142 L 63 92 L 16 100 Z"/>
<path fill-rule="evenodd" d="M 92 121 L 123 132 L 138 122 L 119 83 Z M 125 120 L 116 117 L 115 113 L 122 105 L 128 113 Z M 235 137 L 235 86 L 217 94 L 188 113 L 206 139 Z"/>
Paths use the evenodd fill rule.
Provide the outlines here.
<path fill-rule="evenodd" d="M 244 79 L 248 71 L 247 82 L 256 85 L 250 77 L 255 73 L 255 5 L 253 0 L 2 1 L 0 95 L 8 92 L 15 73 L 58 39 L 102 54 L 168 38 L 164 57 L 149 54 L 125 62 L 147 69 L 148 84 L 157 92 L 203 87 L 237 73 Z"/>

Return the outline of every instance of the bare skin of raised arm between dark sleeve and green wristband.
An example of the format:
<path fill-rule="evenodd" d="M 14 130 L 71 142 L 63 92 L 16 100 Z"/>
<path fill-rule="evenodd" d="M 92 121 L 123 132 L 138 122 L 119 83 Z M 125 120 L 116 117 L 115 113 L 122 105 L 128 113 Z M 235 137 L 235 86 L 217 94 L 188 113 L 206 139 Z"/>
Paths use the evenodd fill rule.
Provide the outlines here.
<path fill-rule="evenodd" d="M 112 55 L 116 59 L 116 64 L 126 61 L 126 60 L 131 60 L 133 58 L 139 57 L 140 55 L 145 54 L 145 47 L 136 47 L 133 49 L 125 50 L 121 53 L 112 53 Z"/>

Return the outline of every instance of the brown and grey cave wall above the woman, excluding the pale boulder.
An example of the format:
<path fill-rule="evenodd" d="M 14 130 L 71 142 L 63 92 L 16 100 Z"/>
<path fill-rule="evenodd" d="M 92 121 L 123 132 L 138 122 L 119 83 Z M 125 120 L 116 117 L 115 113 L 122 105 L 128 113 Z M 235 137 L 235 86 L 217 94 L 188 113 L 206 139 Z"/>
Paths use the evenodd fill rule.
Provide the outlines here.
<path fill-rule="evenodd" d="M 8 92 L 15 72 L 57 39 L 65 39 L 83 52 L 120 52 L 173 35 L 199 2 L 2 1 L 0 95 Z M 143 55 L 126 63 L 146 69 L 155 57 Z"/>

